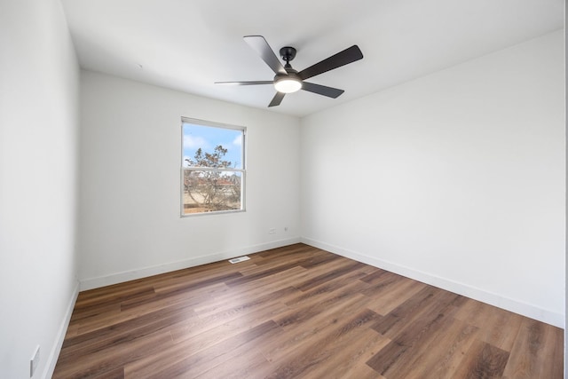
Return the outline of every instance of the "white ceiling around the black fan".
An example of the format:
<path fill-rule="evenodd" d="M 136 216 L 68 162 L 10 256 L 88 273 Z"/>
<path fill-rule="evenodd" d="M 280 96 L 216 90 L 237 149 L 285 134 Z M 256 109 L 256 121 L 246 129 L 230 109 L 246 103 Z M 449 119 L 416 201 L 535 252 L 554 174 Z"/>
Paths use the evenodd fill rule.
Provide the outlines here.
<path fill-rule="evenodd" d="M 563 28 L 564 0 L 61 0 L 81 67 L 304 116 Z M 261 35 L 298 71 L 358 44 L 364 59 L 267 108 L 273 72 L 242 39 Z"/>

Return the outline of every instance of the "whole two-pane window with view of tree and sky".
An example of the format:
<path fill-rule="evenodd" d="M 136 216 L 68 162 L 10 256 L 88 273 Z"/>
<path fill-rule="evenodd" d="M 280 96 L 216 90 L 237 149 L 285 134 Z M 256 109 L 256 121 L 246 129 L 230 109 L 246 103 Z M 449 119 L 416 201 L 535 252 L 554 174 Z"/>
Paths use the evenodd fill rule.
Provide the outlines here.
<path fill-rule="evenodd" d="M 182 119 L 181 215 L 244 210 L 246 128 Z"/>

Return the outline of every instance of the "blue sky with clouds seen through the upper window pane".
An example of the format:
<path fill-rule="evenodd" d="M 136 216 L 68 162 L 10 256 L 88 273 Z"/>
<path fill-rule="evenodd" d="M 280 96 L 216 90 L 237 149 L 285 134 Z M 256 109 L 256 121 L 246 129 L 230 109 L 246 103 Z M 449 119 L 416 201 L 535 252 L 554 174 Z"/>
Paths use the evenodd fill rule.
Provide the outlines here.
<path fill-rule="evenodd" d="M 213 153 L 213 149 L 216 146 L 221 145 L 228 150 L 225 155 L 225 160 L 231 161 L 233 167 L 234 164 L 237 163 L 237 169 L 242 168 L 241 130 L 213 128 L 210 126 L 201 126 L 184 122 L 183 133 L 184 159 L 187 157 L 193 158 L 195 151 L 197 151 L 200 147 L 205 153 Z"/>

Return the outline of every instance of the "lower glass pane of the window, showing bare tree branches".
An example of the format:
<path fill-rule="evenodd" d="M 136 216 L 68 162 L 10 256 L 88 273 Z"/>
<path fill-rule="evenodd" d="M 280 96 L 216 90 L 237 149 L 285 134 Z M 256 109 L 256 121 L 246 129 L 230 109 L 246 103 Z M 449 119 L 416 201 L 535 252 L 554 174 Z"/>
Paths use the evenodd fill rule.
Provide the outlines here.
<path fill-rule="evenodd" d="M 240 171 L 184 170 L 184 214 L 241 209 Z"/>

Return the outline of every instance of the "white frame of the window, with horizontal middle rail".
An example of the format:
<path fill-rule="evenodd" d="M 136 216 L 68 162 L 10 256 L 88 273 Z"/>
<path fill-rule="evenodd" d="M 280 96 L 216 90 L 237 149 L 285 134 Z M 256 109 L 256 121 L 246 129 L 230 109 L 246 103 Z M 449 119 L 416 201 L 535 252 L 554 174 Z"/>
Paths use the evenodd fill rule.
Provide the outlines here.
<path fill-rule="evenodd" d="M 239 130 L 241 131 L 241 169 L 236 168 L 223 168 L 223 169 L 216 169 L 216 168 L 208 168 L 208 167 L 184 167 L 184 125 L 185 124 L 193 124 L 197 126 L 204 126 L 209 128 L 217 128 L 217 129 L 229 129 L 229 130 Z M 219 215 L 219 214 L 227 214 L 227 213 L 240 213 L 246 212 L 246 183 L 247 183 L 247 127 L 240 126 L 240 125 L 232 125 L 226 124 L 222 122 L 212 122 L 207 120 L 200 120 L 191 117 L 182 117 L 181 118 L 181 159 L 180 159 L 180 182 L 179 182 L 179 206 L 180 206 L 180 217 L 199 217 L 199 216 L 206 216 L 206 215 Z M 184 185 L 185 185 L 185 170 L 190 171 L 229 171 L 229 172 L 239 172 L 241 174 L 241 209 L 228 209 L 228 210 L 211 210 L 206 212 L 196 212 L 196 213 L 185 213 L 184 208 Z"/>

